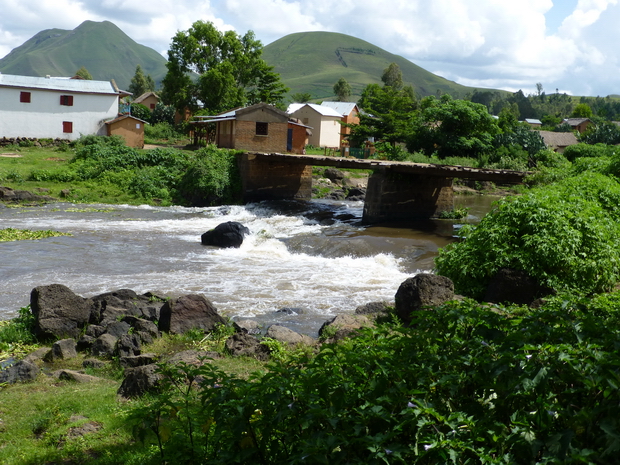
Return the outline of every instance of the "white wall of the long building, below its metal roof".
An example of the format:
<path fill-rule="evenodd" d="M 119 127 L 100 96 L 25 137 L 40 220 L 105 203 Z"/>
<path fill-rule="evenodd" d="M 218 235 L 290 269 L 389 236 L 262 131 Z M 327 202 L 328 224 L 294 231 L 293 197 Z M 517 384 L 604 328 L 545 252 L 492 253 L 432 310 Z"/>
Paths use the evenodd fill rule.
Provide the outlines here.
<path fill-rule="evenodd" d="M 30 92 L 30 103 L 20 93 Z M 61 95 L 72 95 L 73 106 L 60 105 Z M 0 137 L 79 139 L 106 134 L 104 122 L 118 114 L 118 95 L 0 87 Z M 63 121 L 73 132 L 63 132 Z"/>

